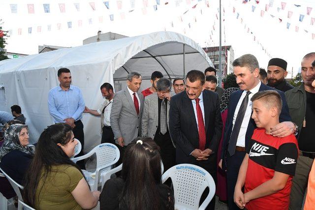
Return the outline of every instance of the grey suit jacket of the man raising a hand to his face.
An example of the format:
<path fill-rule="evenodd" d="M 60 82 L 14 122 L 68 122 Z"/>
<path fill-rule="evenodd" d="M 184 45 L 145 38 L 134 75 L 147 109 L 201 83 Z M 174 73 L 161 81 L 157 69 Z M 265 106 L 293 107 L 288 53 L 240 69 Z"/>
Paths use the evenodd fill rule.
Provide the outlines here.
<path fill-rule="evenodd" d="M 166 118 L 167 118 L 167 126 L 169 128 L 169 107 L 170 102 L 167 101 L 167 110 L 166 110 Z M 158 94 L 155 92 L 150 94 L 144 98 L 144 107 L 141 119 L 141 135 L 149 136 L 154 139 L 158 128 Z M 174 147 L 175 144 L 172 141 Z"/>

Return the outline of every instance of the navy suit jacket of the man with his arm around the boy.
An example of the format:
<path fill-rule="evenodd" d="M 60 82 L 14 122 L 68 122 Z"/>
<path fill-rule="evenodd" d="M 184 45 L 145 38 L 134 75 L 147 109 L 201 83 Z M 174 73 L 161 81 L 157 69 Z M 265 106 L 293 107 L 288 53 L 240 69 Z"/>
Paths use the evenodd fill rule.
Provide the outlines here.
<path fill-rule="evenodd" d="M 274 88 L 271 88 L 271 87 L 268 87 L 268 86 L 261 83 L 258 91 L 263 91 L 263 90 L 276 90 L 276 91 L 278 91 L 278 93 L 281 95 L 281 98 L 282 98 L 282 111 L 281 111 L 281 114 L 279 117 L 279 121 L 280 122 L 291 121 L 291 117 L 289 115 L 289 109 L 288 109 L 287 104 L 286 104 L 284 92 L 277 90 L 277 89 L 274 89 Z M 227 152 L 227 148 L 228 148 L 228 143 L 229 143 L 231 132 L 232 132 L 234 112 L 235 112 L 237 103 L 241 98 L 242 92 L 243 92 L 243 90 L 237 90 L 237 91 L 233 92 L 231 94 L 229 102 L 228 102 L 228 113 L 227 113 L 227 119 L 226 119 L 225 128 L 224 128 L 224 136 L 223 136 L 222 151 L 221 151 L 221 159 L 223 159 L 223 163 L 225 163 L 224 160 L 225 160 L 225 156 L 226 156 L 226 152 Z M 249 123 L 248 123 L 247 131 L 246 131 L 246 135 L 245 135 L 245 147 L 247 147 L 247 145 L 249 144 L 249 141 L 252 138 L 252 133 L 253 133 L 255 128 L 256 128 L 256 124 L 255 124 L 254 120 L 251 118 Z M 225 164 L 222 164 L 222 165 L 226 166 Z"/>

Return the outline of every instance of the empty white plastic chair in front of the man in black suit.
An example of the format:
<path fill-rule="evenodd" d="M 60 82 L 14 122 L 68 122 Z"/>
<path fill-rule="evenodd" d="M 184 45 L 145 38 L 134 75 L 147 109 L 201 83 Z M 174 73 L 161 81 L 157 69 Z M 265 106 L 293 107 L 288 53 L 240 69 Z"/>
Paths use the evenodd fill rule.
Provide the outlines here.
<path fill-rule="evenodd" d="M 216 184 L 203 168 L 192 164 L 179 164 L 162 175 L 164 183 L 171 178 L 174 187 L 175 209 L 204 210 L 216 192 Z M 199 207 L 203 191 L 209 187 L 209 194 Z"/>

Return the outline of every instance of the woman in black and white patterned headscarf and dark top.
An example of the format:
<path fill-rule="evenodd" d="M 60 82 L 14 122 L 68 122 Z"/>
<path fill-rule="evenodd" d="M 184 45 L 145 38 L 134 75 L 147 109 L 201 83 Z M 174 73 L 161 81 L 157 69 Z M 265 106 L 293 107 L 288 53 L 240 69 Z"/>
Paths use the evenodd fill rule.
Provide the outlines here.
<path fill-rule="evenodd" d="M 0 148 L 0 167 L 21 185 L 34 155 L 34 148 L 28 145 L 29 127 L 27 125 L 11 124 L 4 131 L 4 143 Z"/>

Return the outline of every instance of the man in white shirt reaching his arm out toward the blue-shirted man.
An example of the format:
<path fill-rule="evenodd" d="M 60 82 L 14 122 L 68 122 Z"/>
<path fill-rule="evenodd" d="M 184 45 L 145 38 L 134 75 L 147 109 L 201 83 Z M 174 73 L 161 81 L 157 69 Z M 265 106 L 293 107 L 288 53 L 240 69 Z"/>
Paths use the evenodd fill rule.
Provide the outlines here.
<path fill-rule="evenodd" d="M 98 110 L 89 109 L 87 106 L 84 109 L 84 113 L 90 113 L 95 116 L 100 116 L 100 133 L 102 134 L 102 143 L 115 144 L 114 133 L 110 126 L 110 112 L 112 110 L 114 89 L 109 83 L 104 83 L 100 87 L 102 96 L 106 99 Z"/>

